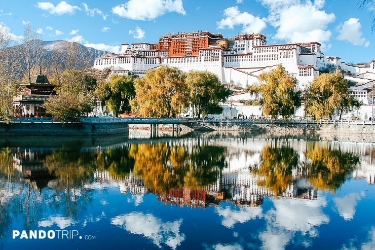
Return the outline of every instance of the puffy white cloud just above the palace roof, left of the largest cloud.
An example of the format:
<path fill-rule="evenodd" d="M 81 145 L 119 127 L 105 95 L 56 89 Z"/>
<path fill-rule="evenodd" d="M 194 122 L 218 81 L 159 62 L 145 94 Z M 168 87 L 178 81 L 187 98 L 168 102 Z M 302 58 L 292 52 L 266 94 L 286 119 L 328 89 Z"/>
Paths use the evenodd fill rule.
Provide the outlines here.
<path fill-rule="evenodd" d="M 234 26 L 241 25 L 244 33 L 259 33 L 267 26 L 264 18 L 255 17 L 247 12 L 241 13 L 237 6 L 225 9 L 224 18 L 216 24 L 220 29 L 233 29 Z"/>

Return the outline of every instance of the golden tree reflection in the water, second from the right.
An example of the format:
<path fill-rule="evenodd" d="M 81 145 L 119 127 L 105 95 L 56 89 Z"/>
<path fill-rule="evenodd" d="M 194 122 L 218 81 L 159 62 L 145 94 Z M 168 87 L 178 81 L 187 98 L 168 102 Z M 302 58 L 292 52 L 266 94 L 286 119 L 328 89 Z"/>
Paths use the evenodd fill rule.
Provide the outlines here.
<path fill-rule="evenodd" d="M 298 166 L 298 154 L 292 148 L 267 145 L 261 151 L 260 166 L 253 173 L 260 175 L 258 185 L 266 186 L 275 195 L 282 193 L 292 183 L 292 170 Z"/>

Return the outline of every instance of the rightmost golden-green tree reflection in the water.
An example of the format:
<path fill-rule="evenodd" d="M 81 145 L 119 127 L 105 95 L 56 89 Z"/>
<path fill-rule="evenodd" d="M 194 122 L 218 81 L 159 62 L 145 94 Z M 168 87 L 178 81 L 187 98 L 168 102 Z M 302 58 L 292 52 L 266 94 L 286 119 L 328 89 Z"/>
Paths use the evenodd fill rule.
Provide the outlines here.
<path fill-rule="evenodd" d="M 305 156 L 308 180 L 314 187 L 332 192 L 345 182 L 347 175 L 359 162 L 357 156 L 341 150 L 332 150 L 327 145 L 321 147 L 319 142 L 309 147 Z"/>

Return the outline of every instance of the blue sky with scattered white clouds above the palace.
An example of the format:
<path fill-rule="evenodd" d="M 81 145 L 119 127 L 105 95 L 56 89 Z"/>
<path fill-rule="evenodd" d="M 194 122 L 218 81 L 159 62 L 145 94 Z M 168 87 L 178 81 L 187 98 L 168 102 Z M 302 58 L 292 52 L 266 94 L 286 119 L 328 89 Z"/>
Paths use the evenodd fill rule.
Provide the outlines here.
<path fill-rule="evenodd" d="M 314 42 L 345 62 L 375 58 L 371 8 L 360 0 L 0 0 L 0 29 L 22 41 L 27 23 L 44 41 L 67 40 L 118 52 L 166 33 L 262 33 L 267 44 Z"/>

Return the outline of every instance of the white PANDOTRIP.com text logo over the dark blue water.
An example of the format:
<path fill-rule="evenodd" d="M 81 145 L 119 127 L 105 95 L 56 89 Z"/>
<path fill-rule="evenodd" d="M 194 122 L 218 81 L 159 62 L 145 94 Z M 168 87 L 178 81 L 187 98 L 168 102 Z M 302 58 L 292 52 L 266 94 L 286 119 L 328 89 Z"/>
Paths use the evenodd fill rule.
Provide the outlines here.
<path fill-rule="evenodd" d="M 96 239 L 95 235 L 80 235 L 78 230 L 13 230 L 13 239 Z"/>

